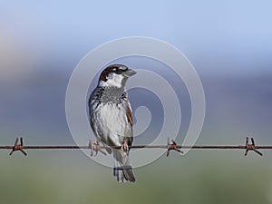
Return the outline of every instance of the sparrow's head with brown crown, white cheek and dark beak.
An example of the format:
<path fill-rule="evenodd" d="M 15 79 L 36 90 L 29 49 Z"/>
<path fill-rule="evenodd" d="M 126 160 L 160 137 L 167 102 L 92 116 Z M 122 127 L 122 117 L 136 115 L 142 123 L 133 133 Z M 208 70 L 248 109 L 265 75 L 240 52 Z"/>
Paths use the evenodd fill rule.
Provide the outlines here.
<path fill-rule="evenodd" d="M 112 64 L 105 68 L 99 77 L 99 86 L 124 88 L 127 80 L 135 71 L 122 64 Z"/>

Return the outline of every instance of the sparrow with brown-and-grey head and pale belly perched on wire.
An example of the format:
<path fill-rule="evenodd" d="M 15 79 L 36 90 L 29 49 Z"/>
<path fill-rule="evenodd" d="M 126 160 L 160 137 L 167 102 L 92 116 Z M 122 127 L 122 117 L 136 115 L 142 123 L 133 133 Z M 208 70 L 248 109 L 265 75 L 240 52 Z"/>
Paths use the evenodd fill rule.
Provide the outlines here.
<path fill-rule="evenodd" d="M 132 111 L 125 90 L 127 80 L 134 74 L 135 71 L 122 64 L 106 67 L 88 102 L 90 124 L 97 144 L 102 142 L 107 147 L 121 147 L 106 148 L 114 158 L 113 176 L 120 182 L 135 181 L 129 157 L 129 146 L 133 141 Z"/>

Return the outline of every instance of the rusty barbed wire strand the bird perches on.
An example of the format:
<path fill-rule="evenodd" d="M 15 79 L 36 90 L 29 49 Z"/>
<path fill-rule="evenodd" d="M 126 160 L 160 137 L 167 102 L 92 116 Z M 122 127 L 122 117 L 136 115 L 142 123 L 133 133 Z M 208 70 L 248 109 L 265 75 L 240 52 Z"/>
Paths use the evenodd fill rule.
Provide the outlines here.
<path fill-rule="evenodd" d="M 20 141 L 20 143 L 18 143 Z M 263 156 L 263 154 L 258 151 L 259 149 L 267 149 L 272 150 L 272 146 L 262 145 L 257 146 L 255 145 L 255 141 L 251 138 L 251 144 L 249 144 L 249 138 L 246 139 L 245 145 L 193 145 L 193 146 L 181 146 L 178 145 L 175 141 L 168 139 L 166 145 L 131 145 L 129 146 L 130 149 L 141 149 L 141 148 L 149 148 L 149 149 L 167 149 L 166 156 L 170 155 L 170 151 L 178 151 L 183 153 L 181 149 L 210 149 L 210 150 L 246 150 L 245 156 L 248 155 L 248 151 L 255 151 L 258 155 Z M 95 152 L 96 154 L 98 151 L 102 152 L 102 154 L 106 155 L 106 152 L 102 151 L 103 149 L 121 149 L 121 146 L 103 146 L 99 145 L 95 141 L 89 141 L 88 146 L 41 146 L 41 145 L 32 145 L 32 146 L 24 146 L 23 138 L 16 138 L 15 145 L 13 146 L 0 146 L 0 150 L 12 150 L 10 151 L 9 155 L 12 155 L 15 151 L 21 151 L 24 156 L 27 156 L 27 153 L 24 150 L 71 150 L 71 149 L 87 149 L 91 151 L 91 156 Z"/>

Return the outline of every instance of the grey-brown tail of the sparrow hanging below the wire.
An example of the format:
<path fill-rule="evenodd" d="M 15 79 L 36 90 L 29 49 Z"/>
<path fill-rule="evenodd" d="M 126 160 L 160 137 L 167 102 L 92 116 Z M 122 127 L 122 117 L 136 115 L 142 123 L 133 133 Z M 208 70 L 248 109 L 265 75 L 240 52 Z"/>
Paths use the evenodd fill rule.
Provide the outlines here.
<path fill-rule="evenodd" d="M 119 182 L 124 182 L 126 180 L 134 182 L 135 176 L 130 164 L 130 157 L 128 152 L 122 150 L 114 150 L 113 157 L 115 159 L 113 176 L 116 177 Z"/>

